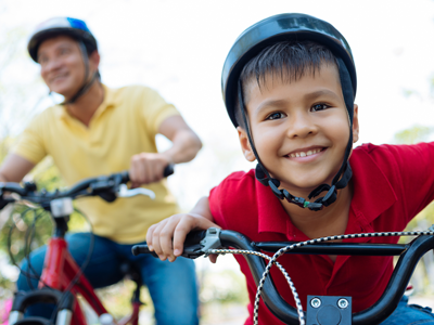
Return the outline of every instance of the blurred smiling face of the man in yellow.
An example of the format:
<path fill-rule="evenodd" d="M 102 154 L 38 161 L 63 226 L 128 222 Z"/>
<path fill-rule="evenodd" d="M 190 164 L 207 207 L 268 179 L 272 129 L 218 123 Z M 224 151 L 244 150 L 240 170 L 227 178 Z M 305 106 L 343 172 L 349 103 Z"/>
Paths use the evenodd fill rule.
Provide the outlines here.
<path fill-rule="evenodd" d="M 68 99 L 81 87 L 85 63 L 78 42 L 67 36 L 44 40 L 38 49 L 41 77 L 51 91 Z"/>

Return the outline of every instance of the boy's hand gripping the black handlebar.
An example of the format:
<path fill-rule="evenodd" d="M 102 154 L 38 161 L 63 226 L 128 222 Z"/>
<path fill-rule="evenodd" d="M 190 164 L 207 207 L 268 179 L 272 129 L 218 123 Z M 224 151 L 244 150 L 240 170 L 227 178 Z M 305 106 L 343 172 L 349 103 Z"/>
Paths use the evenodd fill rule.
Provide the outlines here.
<path fill-rule="evenodd" d="M 197 213 L 181 213 L 167 218 L 159 223 L 151 225 L 148 230 L 146 242 L 151 251 L 155 251 L 162 261 L 175 261 L 183 251 L 187 234 L 193 230 L 207 230 L 220 227 L 209 219 Z M 217 256 L 209 256 L 215 263 Z"/>

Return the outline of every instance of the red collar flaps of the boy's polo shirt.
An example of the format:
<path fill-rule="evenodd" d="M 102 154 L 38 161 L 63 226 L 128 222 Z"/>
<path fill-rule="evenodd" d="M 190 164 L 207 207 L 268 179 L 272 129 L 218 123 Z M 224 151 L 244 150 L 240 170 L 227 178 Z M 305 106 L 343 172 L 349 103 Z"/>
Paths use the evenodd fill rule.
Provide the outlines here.
<path fill-rule="evenodd" d="M 370 157 L 365 147 L 356 148 L 349 159 L 353 169 L 354 196 L 350 214 L 357 213 L 356 222 L 368 231 L 373 220 L 387 210 L 397 196 L 387 178 Z M 256 199 L 258 203 L 258 232 L 285 234 L 289 239 L 301 233 L 291 222 L 280 200 L 270 188 L 256 182 Z M 349 223 L 349 221 L 348 221 Z"/>

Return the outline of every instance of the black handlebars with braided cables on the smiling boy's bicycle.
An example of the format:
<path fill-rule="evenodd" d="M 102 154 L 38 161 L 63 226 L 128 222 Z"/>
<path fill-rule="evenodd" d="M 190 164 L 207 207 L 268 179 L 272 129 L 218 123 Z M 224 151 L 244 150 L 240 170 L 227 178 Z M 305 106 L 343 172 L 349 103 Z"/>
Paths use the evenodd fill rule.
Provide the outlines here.
<path fill-rule="evenodd" d="M 409 244 L 362 244 L 326 243 L 335 239 L 373 237 L 373 236 L 418 236 Z M 361 233 L 331 236 L 307 242 L 261 242 L 255 243 L 245 235 L 210 227 L 207 231 L 190 233 L 184 242 L 182 257 L 195 259 L 210 253 L 241 253 L 245 257 L 252 275 L 258 287 L 254 324 L 257 324 L 259 296 L 267 308 L 285 324 L 307 325 L 366 325 L 380 324 L 398 306 L 419 259 L 434 248 L 434 225 L 424 232 Z M 263 253 L 273 252 L 273 257 Z M 148 245 L 136 245 L 132 253 L 152 253 Z M 277 259 L 283 253 L 308 255 L 360 255 L 360 256 L 399 256 L 391 280 L 380 299 L 370 308 L 352 313 L 352 297 L 308 296 L 307 311 L 304 311 L 294 284 Z M 268 265 L 265 259 L 269 260 Z M 276 264 L 283 272 L 293 291 L 296 308 L 289 304 L 278 292 L 268 276 L 271 265 Z M 306 315 L 306 316 L 305 316 Z"/>

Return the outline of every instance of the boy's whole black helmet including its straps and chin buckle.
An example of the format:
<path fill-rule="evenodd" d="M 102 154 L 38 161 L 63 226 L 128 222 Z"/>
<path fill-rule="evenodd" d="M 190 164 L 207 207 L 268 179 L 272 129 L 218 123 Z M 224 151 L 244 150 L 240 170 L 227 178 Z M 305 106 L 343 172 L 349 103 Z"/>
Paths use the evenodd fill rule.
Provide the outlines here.
<path fill-rule="evenodd" d="M 328 48 L 336 57 L 339 75 L 341 79 L 342 92 L 345 106 L 348 112 L 349 139 L 345 150 L 343 164 L 333 178 L 331 185 L 321 184 L 308 196 L 312 198 L 327 191 L 323 197 L 315 202 L 307 202 L 303 197 L 296 197 L 286 190 L 280 190 L 280 181 L 271 178 L 267 169 L 260 162 L 256 148 L 252 141 L 251 130 L 244 112 L 244 101 L 241 89 L 240 75 L 243 67 L 261 50 L 280 41 L 305 41 L 310 40 Z M 302 208 L 309 208 L 318 211 L 334 203 L 337 198 L 337 190 L 344 188 L 352 178 L 352 169 L 348 164 L 349 154 L 353 147 L 353 116 L 354 99 L 356 95 L 357 78 L 356 67 L 353 60 L 352 50 L 345 38 L 331 24 L 316 17 L 298 14 L 285 13 L 268 17 L 256 23 L 235 40 L 235 43 L 226 57 L 221 74 L 221 91 L 226 109 L 232 123 L 238 127 L 235 118 L 237 99 L 242 107 L 242 115 L 246 126 L 246 133 L 253 153 L 258 161 L 256 167 L 256 179 L 266 186 L 270 186 L 273 194 L 280 199 L 295 204 Z"/>

